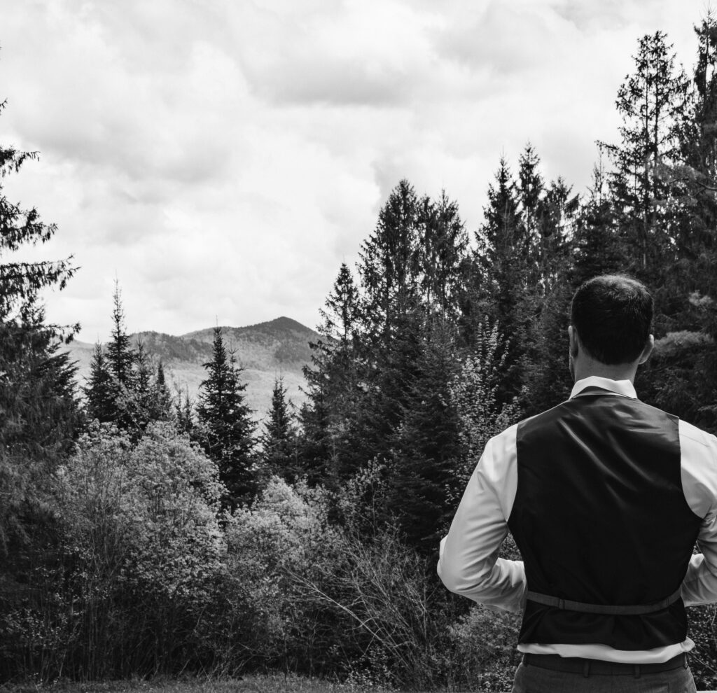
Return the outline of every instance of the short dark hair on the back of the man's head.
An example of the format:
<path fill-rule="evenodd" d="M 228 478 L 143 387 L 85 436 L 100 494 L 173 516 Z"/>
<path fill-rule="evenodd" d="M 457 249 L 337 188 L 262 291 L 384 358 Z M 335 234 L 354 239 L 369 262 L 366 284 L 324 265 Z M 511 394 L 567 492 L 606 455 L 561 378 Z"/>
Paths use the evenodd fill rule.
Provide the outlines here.
<path fill-rule="evenodd" d="M 570 304 L 570 320 L 582 347 L 601 363 L 637 359 L 652 328 L 652 296 L 637 279 L 604 274 L 580 285 Z"/>

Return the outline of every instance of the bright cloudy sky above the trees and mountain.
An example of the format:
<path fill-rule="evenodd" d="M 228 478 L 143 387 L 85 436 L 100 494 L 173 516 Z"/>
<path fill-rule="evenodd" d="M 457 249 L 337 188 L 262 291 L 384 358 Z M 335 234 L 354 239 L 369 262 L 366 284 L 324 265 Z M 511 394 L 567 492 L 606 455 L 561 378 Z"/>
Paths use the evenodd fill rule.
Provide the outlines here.
<path fill-rule="evenodd" d="M 106 340 L 285 315 L 310 328 L 391 189 L 470 236 L 505 156 L 583 193 L 637 40 L 691 72 L 695 0 L 0 0 L 4 194 L 80 267 L 47 317 Z"/>

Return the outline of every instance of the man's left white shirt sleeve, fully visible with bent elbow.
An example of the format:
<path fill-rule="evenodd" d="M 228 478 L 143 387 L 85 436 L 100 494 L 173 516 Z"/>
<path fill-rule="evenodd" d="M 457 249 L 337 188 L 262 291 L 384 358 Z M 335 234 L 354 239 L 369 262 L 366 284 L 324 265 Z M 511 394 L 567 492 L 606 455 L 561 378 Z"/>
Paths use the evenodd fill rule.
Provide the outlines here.
<path fill-rule="evenodd" d="M 497 611 L 521 611 L 523 561 L 498 558 L 516 497 L 516 428 L 488 441 L 440 545 L 438 575 L 452 592 Z"/>

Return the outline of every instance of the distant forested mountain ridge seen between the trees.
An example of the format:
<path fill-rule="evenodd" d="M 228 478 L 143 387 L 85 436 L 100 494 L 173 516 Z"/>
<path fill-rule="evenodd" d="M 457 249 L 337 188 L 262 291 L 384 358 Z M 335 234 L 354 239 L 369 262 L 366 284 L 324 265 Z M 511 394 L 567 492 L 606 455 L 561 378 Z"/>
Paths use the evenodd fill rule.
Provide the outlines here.
<path fill-rule="evenodd" d="M 255 419 L 263 419 L 271 404 L 274 379 L 283 376 L 287 396 L 295 406 L 305 401 L 300 391 L 304 385 L 302 368 L 311 361 L 309 342 L 319 338 L 318 333 L 290 317 L 260 322 L 245 328 L 222 327 L 224 344 L 233 350 L 237 363 L 244 368 L 242 382 L 247 383 L 247 404 Z M 159 332 L 141 332 L 130 335 L 135 343 L 141 341 L 151 358 L 162 361 L 173 389 L 189 389 L 196 401 L 199 383 L 206 378 L 203 363 L 212 358 L 214 328 L 197 330 L 175 337 Z M 90 362 L 95 345 L 73 341 L 65 347 L 77 362 L 80 385 L 90 374 Z"/>

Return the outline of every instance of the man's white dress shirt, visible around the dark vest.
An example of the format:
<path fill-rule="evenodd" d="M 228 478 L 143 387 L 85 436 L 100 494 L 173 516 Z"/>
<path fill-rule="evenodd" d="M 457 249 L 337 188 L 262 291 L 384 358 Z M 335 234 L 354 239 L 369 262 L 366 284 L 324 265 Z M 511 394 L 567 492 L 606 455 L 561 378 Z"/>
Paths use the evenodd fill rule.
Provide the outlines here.
<path fill-rule="evenodd" d="M 571 397 L 591 386 L 637 397 L 630 381 L 597 376 L 576 382 Z M 452 592 L 489 608 L 521 612 L 526 593 L 523 561 L 498 558 L 518 487 L 517 429 L 518 424 L 511 426 L 486 444 L 450 530 L 441 540 L 438 575 Z M 701 553 L 690 560 L 682 586 L 685 606 L 695 606 L 717 601 L 717 438 L 684 421 L 679 423 L 679 434 L 685 500 L 703 518 L 697 540 Z M 645 664 L 667 661 L 693 646 L 687 638 L 647 651 L 559 643 L 519 644 L 518 651 Z"/>

